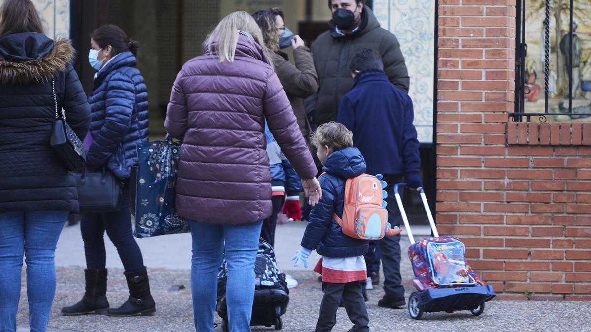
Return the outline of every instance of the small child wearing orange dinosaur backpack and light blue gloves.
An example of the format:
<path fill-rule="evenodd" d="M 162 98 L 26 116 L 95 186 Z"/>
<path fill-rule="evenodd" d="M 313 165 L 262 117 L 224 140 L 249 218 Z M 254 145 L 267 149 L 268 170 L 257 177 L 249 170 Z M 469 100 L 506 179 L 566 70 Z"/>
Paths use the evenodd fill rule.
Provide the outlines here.
<path fill-rule="evenodd" d="M 369 316 L 361 281 L 367 278 L 363 255 L 369 239 L 394 235 L 382 198 L 385 183 L 365 174 L 363 155 L 353 147 L 353 134 L 345 126 L 330 122 L 312 137 L 322 162 L 319 177 L 322 198 L 310 212 L 301 249 L 291 259 L 304 263 L 312 250 L 322 255 L 314 271 L 322 275 L 322 304 L 316 331 L 330 331 L 342 298 L 353 331 L 369 331 Z"/>

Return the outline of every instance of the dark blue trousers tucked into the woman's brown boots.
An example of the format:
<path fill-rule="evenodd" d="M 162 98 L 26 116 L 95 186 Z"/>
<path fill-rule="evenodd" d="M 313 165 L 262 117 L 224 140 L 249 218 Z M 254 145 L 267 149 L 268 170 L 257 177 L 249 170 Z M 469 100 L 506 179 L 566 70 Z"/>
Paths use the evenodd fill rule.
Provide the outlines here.
<path fill-rule="evenodd" d="M 129 181 L 124 181 L 121 209 L 110 213 L 85 214 L 80 221 L 84 240 L 86 267 L 105 268 L 105 231 L 117 248 L 125 271 L 135 272 L 144 268 L 144 258 L 135 242 L 129 212 Z"/>

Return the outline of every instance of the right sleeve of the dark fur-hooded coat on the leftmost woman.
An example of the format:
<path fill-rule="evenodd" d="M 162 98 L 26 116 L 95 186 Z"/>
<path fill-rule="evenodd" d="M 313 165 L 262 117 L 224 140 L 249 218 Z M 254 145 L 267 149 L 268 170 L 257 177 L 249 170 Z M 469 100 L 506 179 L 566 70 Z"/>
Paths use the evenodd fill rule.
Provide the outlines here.
<path fill-rule="evenodd" d="M 64 83 L 64 99 L 61 107 L 64 108 L 66 121 L 70 127 L 80 139 L 84 139 L 90 125 L 90 105 L 78 74 L 71 64 L 66 67 Z"/>

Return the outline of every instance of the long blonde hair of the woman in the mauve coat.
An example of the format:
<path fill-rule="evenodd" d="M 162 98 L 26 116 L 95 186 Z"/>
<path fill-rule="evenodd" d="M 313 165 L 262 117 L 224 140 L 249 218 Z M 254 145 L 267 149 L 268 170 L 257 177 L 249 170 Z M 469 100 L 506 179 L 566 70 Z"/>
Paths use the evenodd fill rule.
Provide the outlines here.
<path fill-rule="evenodd" d="M 263 42 L 261 29 L 254 18 L 245 11 L 233 12 L 222 18 L 222 21 L 217 24 L 216 28 L 207 37 L 204 47 L 209 54 L 217 56 L 220 62 L 234 62 L 239 31 L 248 32 L 252 35 L 254 42 L 262 48 L 270 63 L 270 52 Z"/>

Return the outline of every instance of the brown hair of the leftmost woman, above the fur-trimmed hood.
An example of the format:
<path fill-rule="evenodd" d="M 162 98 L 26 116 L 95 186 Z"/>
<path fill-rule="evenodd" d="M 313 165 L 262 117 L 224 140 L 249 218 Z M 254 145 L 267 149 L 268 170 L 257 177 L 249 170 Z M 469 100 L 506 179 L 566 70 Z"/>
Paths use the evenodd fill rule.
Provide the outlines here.
<path fill-rule="evenodd" d="M 41 18 L 30 0 L 6 0 L 0 12 L 0 37 L 24 32 L 43 34 Z"/>

